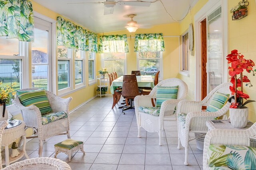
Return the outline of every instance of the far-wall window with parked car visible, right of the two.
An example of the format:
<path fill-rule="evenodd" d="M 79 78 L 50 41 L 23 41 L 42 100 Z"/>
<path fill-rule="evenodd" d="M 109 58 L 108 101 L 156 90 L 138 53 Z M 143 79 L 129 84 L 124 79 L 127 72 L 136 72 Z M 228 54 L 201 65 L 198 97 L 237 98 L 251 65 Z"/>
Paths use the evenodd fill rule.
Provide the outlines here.
<path fill-rule="evenodd" d="M 145 51 L 137 52 L 137 68 L 141 75 L 150 75 L 154 78 L 156 72 L 162 68 L 162 52 Z M 160 71 L 159 78 L 162 78 Z"/>

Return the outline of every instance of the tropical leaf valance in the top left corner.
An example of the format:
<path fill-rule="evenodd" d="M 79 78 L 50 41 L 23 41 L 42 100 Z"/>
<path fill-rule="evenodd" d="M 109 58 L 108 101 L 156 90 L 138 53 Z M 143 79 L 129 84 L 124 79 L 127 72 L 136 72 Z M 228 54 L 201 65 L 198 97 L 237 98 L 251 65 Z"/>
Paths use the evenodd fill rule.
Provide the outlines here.
<path fill-rule="evenodd" d="M 34 41 L 34 15 L 28 0 L 0 0 L 0 36 Z"/>

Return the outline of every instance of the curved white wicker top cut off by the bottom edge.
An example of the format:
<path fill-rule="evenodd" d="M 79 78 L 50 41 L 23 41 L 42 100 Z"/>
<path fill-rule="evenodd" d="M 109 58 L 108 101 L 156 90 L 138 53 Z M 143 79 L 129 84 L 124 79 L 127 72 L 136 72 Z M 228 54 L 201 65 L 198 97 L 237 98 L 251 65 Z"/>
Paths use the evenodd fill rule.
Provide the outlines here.
<path fill-rule="evenodd" d="M 62 160 L 42 157 L 22 160 L 2 170 L 71 170 L 71 168 Z"/>

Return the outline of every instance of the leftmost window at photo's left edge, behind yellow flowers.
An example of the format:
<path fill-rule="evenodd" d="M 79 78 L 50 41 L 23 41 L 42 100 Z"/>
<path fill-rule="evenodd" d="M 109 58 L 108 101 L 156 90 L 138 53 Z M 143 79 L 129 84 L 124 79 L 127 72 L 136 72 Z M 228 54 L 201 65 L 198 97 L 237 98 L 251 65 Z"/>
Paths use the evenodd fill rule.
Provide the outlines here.
<path fill-rule="evenodd" d="M 2 82 L 2 87 L 9 85 L 14 90 L 22 88 L 24 59 L 24 42 L 0 37 L 0 82 Z M 14 82 L 16 85 L 13 85 Z"/>

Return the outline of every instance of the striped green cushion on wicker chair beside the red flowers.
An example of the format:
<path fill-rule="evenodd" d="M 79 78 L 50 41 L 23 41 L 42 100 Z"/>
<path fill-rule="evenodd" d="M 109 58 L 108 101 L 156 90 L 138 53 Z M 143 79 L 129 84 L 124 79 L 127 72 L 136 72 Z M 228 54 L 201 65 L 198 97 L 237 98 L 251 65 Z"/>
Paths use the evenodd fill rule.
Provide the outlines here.
<path fill-rule="evenodd" d="M 226 102 L 228 101 L 229 94 L 223 94 L 220 92 L 216 92 L 210 101 L 210 104 L 207 106 L 206 111 L 214 112 L 221 109 Z"/>

